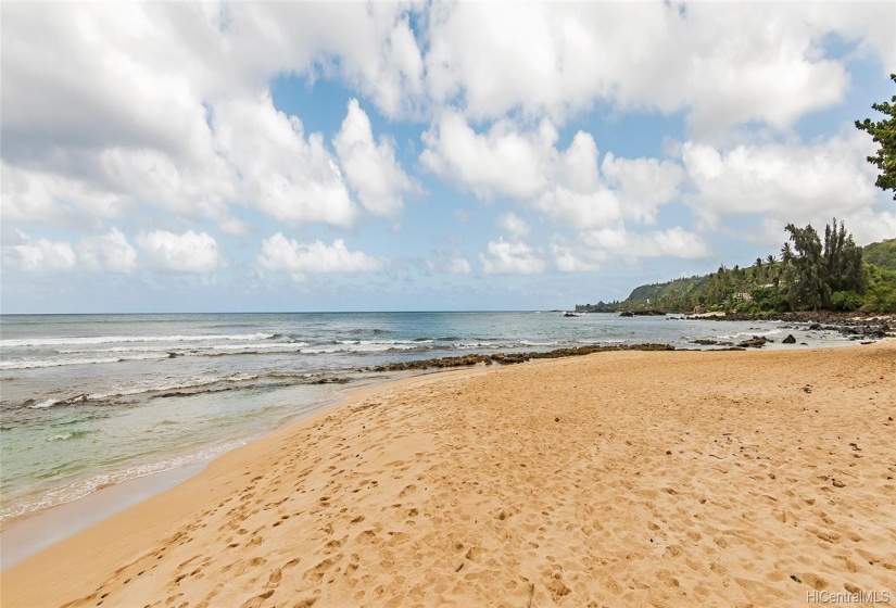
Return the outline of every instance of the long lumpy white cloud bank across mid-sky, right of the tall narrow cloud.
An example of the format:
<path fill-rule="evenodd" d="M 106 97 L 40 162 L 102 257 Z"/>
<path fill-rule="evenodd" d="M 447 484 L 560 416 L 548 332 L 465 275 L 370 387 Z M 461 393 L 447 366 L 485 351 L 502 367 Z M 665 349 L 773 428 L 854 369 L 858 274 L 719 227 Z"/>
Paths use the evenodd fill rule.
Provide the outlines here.
<path fill-rule="evenodd" d="M 476 132 L 463 116 L 449 113 L 424 136 L 420 163 L 480 199 L 513 198 L 577 229 L 627 219 L 654 224 L 657 210 L 679 194 L 684 172 L 674 161 L 607 153 L 598 168 L 591 134 L 578 131 L 565 150 L 557 139 L 546 119 L 530 130 L 500 121 Z"/>

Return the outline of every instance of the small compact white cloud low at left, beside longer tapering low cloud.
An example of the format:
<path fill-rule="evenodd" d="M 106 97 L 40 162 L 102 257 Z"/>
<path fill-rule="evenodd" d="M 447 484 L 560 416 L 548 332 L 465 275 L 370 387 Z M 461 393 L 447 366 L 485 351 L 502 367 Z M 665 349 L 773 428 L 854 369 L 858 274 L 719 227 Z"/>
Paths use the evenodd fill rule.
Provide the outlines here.
<path fill-rule="evenodd" d="M 206 232 L 187 230 L 175 235 L 156 230 L 138 235 L 137 243 L 163 270 L 204 275 L 214 273 L 220 265 L 217 242 Z"/>

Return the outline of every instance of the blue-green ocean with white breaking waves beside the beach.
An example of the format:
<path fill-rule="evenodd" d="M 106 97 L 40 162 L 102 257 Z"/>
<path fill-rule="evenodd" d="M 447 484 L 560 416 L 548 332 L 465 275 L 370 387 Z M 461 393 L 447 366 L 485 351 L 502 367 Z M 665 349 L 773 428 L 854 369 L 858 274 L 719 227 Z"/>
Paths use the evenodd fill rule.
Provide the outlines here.
<path fill-rule="evenodd" d="M 467 353 L 695 339 L 848 343 L 805 326 L 557 312 L 0 316 L 0 521 L 200 465 L 394 373 Z M 793 347 L 793 346 L 787 346 Z"/>

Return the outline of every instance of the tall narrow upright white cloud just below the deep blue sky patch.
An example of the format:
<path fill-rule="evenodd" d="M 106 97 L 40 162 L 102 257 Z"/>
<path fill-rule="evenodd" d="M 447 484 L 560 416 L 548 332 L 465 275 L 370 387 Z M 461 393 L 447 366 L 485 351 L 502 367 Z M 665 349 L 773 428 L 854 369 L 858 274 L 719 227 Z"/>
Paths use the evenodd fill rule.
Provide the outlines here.
<path fill-rule="evenodd" d="M 403 206 L 402 194 L 415 186 L 395 160 L 393 143 L 384 137 L 379 143 L 374 141 L 370 119 L 356 99 L 349 102 L 333 145 L 361 204 L 375 215 L 396 215 Z"/>

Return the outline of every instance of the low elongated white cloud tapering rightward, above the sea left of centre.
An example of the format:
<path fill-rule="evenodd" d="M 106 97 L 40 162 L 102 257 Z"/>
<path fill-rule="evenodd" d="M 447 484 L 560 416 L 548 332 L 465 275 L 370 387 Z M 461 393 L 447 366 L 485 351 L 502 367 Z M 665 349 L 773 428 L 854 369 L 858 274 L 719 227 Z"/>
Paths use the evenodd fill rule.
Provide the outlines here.
<path fill-rule="evenodd" d="M 306 244 L 287 239 L 282 232 L 262 241 L 257 263 L 266 270 L 287 273 L 296 281 L 305 274 L 377 273 L 386 267 L 383 261 L 362 251 L 349 251 L 342 239 L 336 239 L 332 245 L 320 241 Z"/>

